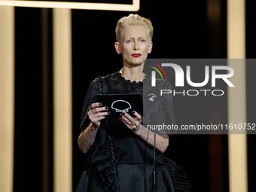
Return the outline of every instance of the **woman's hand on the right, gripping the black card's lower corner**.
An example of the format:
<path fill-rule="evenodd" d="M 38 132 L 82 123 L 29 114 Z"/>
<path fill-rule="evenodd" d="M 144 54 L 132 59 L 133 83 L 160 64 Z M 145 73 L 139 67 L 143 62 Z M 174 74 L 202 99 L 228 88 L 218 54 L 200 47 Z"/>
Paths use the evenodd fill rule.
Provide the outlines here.
<path fill-rule="evenodd" d="M 142 127 L 142 116 L 136 111 L 133 111 L 133 114 L 136 117 L 132 117 L 130 114 L 123 112 L 120 114 L 120 120 L 123 121 L 129 130 L 133 131 L 133 133 L 137 133 Z"/>

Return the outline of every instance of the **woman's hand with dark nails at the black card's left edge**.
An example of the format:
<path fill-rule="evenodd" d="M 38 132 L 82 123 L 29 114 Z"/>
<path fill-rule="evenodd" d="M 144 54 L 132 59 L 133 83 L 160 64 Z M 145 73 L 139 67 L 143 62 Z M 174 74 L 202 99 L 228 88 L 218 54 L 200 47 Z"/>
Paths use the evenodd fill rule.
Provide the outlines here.
<path fill-rule="evenodd" d="M 105 116 L 109 114 L 108 107 L 101 107 L 100 102 L 93 103 L 90 105 L 87 115 L 92 122 L 91 129 L 98 129 L 102 119 L 105 119 Z"/>

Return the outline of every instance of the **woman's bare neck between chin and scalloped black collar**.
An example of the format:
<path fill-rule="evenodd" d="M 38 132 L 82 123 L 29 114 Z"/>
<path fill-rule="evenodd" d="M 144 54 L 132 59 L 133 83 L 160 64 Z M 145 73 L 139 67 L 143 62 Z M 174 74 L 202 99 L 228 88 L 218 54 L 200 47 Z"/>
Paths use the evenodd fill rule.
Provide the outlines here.
<path fill-rule="evenodd" d="M 120 74 L 125 78 L 126 80 L 130 81 L 143 81 L 145 74 L 143 73 L 143 67 L 137 66 L 137 67 L 126 67 L 123 66 L 123 69 L 120 70 Z"/>

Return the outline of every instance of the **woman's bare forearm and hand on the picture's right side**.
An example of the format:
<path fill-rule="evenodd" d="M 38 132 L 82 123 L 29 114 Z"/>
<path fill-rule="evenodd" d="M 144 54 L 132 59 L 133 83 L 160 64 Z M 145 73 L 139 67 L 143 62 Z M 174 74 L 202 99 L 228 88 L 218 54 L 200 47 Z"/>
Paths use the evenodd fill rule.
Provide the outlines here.
<path fill-rule="evenodd" d="M 142 123 L 142 117 L 140 114 L 138 114 L 136 111 L 133 111 L 133 114 L 136 116 L 136 118 L 133 118 L 130 116 L 130 114 L 127 114 L 123 112 L 120 115 L 120 120 L 123 121 L 123 123 L 127 126 L 127 128 L 131 131 L 133 131 L 134 134 L 141 137 L 145 142 L 147 142 L 152 147 L 154 146 L 154 132 L 151 130 L 148 130 L 145 126 L 143 126 Z M 134 122 L 134 124 L 133 124 Z M 160 153 L 163 153 L 166 151 L 166 148 L 169 145 L 169 136 L 167 135 L 156 135 L 156 148 L 157 151 Z"/>

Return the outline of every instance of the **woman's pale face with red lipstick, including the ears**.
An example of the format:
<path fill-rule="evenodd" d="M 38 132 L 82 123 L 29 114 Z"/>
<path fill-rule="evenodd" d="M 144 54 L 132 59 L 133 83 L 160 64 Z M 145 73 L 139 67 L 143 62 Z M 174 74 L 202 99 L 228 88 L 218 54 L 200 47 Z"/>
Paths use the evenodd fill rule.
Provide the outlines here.
<path fill-rule="evenodd" d="M 117 53 L 122 53 L 123 64 L 130 66 L 142 65 L 151 53 L 152 42 L 143 26 L 129 26 L 123 32 L 122 44 L 115 44 Z"/>

